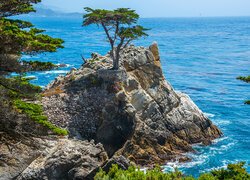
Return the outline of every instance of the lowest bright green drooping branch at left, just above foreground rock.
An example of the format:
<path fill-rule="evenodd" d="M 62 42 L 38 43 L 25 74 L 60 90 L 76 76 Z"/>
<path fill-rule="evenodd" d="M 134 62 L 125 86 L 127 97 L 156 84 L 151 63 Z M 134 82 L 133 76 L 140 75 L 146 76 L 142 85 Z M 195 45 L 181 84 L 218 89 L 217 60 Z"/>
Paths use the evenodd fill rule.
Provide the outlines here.
<path fill-rule="evenodd" d="M 26 114 L 33 121 L 47 127 L 57 135 L 67 135 L 68 131 L 61 129 L 48 121 L 48 118 L 43 114 L 41 105 L 27 103 L 20 99 L 14 100 L 14 107 L 21 113 Z"/>

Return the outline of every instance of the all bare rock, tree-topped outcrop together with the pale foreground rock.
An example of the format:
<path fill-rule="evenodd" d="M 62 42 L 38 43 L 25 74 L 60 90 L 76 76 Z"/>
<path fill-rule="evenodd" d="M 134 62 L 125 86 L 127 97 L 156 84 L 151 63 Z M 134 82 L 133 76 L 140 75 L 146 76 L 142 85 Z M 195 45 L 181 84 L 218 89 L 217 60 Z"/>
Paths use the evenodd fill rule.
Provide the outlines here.
<path fill-rule="evenodd" d="M 120 69 L 111 70 L 109 55 L 92 54 L 47 86 L 41 101 L 45 114 L 68 129 L 69 137 L 40 139 L 37 144 L 44 145 L 34 150 L 36 156 L 16 170 L 8 166 L 13 176 L 91 179 L 112 163 L 126 168 L 188 161 L 184 153 L 194 152 L 192 144 L 209 145 L 222 136 L 187 95 L 166 81 L 157 44 L 130 46 L 120 60 Z"/>

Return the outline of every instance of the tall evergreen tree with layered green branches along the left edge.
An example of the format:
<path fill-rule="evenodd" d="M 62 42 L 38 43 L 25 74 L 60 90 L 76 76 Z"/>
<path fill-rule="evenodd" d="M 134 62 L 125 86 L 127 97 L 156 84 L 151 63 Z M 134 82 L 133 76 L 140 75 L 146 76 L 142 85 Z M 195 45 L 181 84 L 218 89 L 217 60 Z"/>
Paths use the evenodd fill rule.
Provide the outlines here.
<path fill-rule="evenodd" d="M 43 52 L 55 52 L 62 48 L 63 40 L 52 38 L 44 31 L 35 28 L 32 23 L 18 20 L 17 15 L 34 12 L 33 5 L 41 0 L 0 0 L 0 126 L 2 130 L 12 129 L 16 126 L 16 115 L 20 112 L 34 110 L 35 105 L 20 103 L 21 99 L 35 99 L 41 88 L 29 83 L 29 79 L 23 77 L 27 70 L 27 63 L 21 61 L 23 54 L 35 55 Z M 11 18 L 15 16 L 15 18 Z M 36 64 L 38 64 L 36 62 Z M 10 76 L 11 73 L 19 76 Z M 27 111 L 17 110 L 15 102 L 31 107 Z M 17 104 L 17 103 L 16 103 Z M 37 114 L 32 114 L 38 117 Z M 33 117 L 33 116 L 32 116 Z M 45 122 L 45 118 L 39 116 L 39 122 L 55 130 L 54 126 Z M 27 118 L 31 118 L 28 116 Z M 53 129 L 54 128 L 54 129 Z M 57 130 L 57 129 L 56 129 Z"/>

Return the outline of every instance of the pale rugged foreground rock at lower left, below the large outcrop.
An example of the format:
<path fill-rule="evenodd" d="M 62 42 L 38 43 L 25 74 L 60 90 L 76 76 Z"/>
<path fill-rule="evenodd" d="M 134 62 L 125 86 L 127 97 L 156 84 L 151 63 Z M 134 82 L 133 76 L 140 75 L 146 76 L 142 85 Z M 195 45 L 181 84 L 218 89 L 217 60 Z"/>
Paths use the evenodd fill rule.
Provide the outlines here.
<path fill-rule="evenodd" d="M 88 179 L 107 160 L 101 144 L 61 139 L 37 157 L 16 179 Z"/>

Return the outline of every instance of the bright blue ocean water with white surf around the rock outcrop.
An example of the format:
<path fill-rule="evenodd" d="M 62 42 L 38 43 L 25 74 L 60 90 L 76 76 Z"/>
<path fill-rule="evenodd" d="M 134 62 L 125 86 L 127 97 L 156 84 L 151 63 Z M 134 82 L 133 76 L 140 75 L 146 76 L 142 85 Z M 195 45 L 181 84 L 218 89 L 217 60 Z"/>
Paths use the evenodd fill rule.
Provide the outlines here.
<path fill-rule="evenodd" d="M 34 72 L 33 83 L 46 86 L 60 74 L 82 64 L 81 54 L 106 54 L 108 43 L 101 29 L 81 27 L 79 18 L 26 17 L 47 34 L 65 40 L 65 48 L 57 53 L 41 54 L 24 59 L 51 61 L 68 65 L 54 71 Z M 218 125 L 224 137 L 211 146 L 195 146 L 197 153 L 188 154 L 193 161 L 168 163 L 184 173 L 197 176 L 229 163 L 250 163 L 250 84 L 236 80 L 250 75 L 250 17 L 230 18 L 155 18 L 141 19 L 149 37 L 135 42 L 149 46 L 157 41 L 166 79 L 173 87 L 191 96 L 207 116 Z M 248 166 L 250 172 L 250 167 Z"/>

